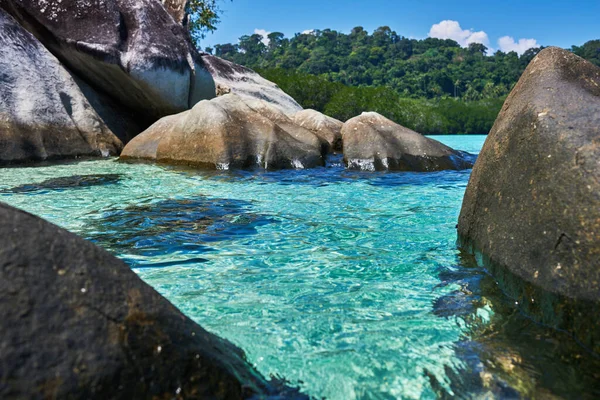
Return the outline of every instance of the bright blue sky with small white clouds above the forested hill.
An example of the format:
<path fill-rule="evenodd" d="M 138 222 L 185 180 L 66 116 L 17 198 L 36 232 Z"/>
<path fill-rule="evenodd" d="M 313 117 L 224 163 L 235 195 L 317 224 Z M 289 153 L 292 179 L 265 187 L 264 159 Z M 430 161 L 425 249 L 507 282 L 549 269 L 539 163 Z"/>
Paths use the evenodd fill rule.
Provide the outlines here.
<path fill-rule="evenodd" d="M 383 25 L 407 37 L 449 37 L 518 52 L 535 44 L 570 47 L 600 38 L 600 0 L 222 0 L 221 8 L 222 22 L 203 40 L 203 47 L 237 43 L 255 30 L 290 37 L 311 29 L 349 32 L 355 26 L 371 32 Z"/>

